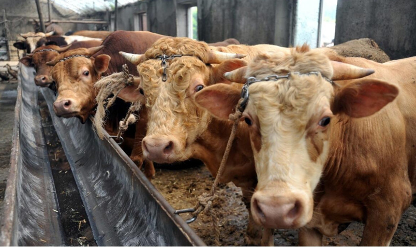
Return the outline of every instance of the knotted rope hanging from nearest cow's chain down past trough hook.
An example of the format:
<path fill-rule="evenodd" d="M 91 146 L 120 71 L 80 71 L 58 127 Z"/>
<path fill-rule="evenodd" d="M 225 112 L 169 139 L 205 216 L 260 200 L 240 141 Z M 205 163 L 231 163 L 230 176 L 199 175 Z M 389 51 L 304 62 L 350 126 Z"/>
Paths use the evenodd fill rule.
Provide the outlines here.
<path fill-rule="evenodd" d="M 235 109 L 235 113 L 231 113 L 229 116 L 229 119 L 233 122 L 231 134 L 230 134 L 230 137 L 228 138 L 227 147 L 222 157 L 221 164 L 218 169 L 217 176 L 215 177 L 214 183 L 212 184 L 211 190 L 209 191 L 209 193 L 203 193 L 201 196 L 198 197 L 198 202 L 194 207 L 195 211 L 191 213 L 191 215 L 194 217 L 198 216 L 201 212 L 204 212 L 204 214 L 211 216 L 212 225 L 214 228 L 216 246 L 220 246 L 220 229 L 218 226 L 217 214 L 215 213 L 214 210 L 210 210 L 210 209 L 212 206 L 212 201 L 217 197 L 215 195 L 215 189 L 217 188 L 219 181 L 224 173 L 225 164 L 230 155 L 232 142 L 234 141 L 235 134 L 237 133 L 238 123 L 240 122 L 241 115 L 243 114 L 242 109 L 240 108 L 240 103 L 242 100 L 243 99 L 240 99 L 240 101 L 238 102 L 236 109 Z"/>

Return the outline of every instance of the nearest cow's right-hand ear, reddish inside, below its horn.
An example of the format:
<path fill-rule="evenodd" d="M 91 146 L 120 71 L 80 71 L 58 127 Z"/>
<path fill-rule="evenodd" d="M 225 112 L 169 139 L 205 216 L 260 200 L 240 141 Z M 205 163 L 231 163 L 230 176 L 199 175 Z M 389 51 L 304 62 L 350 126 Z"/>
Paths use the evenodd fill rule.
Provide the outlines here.
<path fill-rule="evenodd" d="M 396 86 L 377 79 L 361 79 L 341 88 L 335 95 L 332 112 L 366 117 L 380 111 L 398 95 Z"/>

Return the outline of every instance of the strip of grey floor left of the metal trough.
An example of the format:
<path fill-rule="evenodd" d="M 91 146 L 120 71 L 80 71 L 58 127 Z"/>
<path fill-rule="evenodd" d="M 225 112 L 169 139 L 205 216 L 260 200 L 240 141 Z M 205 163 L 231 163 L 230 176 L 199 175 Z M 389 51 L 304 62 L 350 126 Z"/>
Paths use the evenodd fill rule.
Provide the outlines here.
<path fill-rule="evenodd" d="M 0 208 L 4 199 L 9 171 L 17 85 L 17 81 L 0 82 Z M 1 214 L 2 210 L 0 210 L 0 219 L 2 218 Z"/>

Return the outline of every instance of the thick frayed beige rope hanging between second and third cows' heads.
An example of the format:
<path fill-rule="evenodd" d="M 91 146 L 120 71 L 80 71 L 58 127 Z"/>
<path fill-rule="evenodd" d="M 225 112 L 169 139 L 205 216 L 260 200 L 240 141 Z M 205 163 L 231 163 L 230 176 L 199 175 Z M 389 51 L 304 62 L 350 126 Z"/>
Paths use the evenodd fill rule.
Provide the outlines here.
<path fill-rule="evenodd" d="M 98 90 L 95 101 L 97 102 L 97 110 L 94 116 L 94 130 L 97 135 L 102 139 L 104 137 L 103 127 L 106 118 L 106 110 L 109 109 L 116 101 L 117 95 L 127 86 L 134 84 L 133 75 L 129 74 L 127 65 L 123 65 L 123 72 L 113 73 L 105 76 L 97 81 L 94 85 Z M 110 95 L 113 94 L 111 98 Z M 136 122 L 137 116 L 133 112 L 140 111 L 141 103 L 133 102 L 129 108 L 126 117 L 120 121 L 117 139 L 127 130 L 129 124 Z"/>

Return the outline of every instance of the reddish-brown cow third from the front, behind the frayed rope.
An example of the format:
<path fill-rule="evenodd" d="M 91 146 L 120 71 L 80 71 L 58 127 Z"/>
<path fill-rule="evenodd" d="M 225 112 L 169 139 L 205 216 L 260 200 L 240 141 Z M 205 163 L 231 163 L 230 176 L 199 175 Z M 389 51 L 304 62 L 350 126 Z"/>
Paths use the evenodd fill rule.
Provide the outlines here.
<path fill-rule="evenodd" d="M 50 74 L 56 82 L 58 92 L 58 97 L 53 104 L 55 113 L 63 117 L 78 117 L 82 123 L 85 123 L 88 116 L 93 113 L 96 105 L 95 97 L 97 91 L 94 89 L 94 83 L 102 75 L 120 72 L 122 65 L 125 64 L 124 58 L 118 54 L 118 51 L 125 50 L 142 53 L 162 37 L 165 36 L 146 31 L 116 31 L 103 41 L 100 48 L 67 51 L 48 62 L 48 65 L 54 66 Z M 82 56 L 59 62 L 59 60 L 72 55 Z M 131 74 L 138 76 L 137 69 L 133 64 L 129 64 L 129 71 Z M 127 112 L 128 104 L 122 100 L 117 100 L 116 105 L 118 106 L 110 109 L 110 112 L 113 112 L 113 116 L 109 117 L 110 122 L 107 122 L 107 131 L 111 129 L 113 131 L 116 130 L 118 126 L 117 119 L 120 120 L 119 118 L 122 118 Z M 134 137 L 135 143 L 129 145 L 133 146 L 130 157 L 139 166 L 143 162 L 145 163 L 144 173 L 150 179 L 154 176 L 155 170 L 152 162 L 143 160 L 140 143 L 145 135 L 146 119 L 146 108 L 143 108 L 140 112 L 139 121 L 136 123 L 136 133 L 134 129 L 129 128 L 125 136 L 130 137 L 130 139 Z M 127 141 L 126 138 L 125 140 Z"/>

